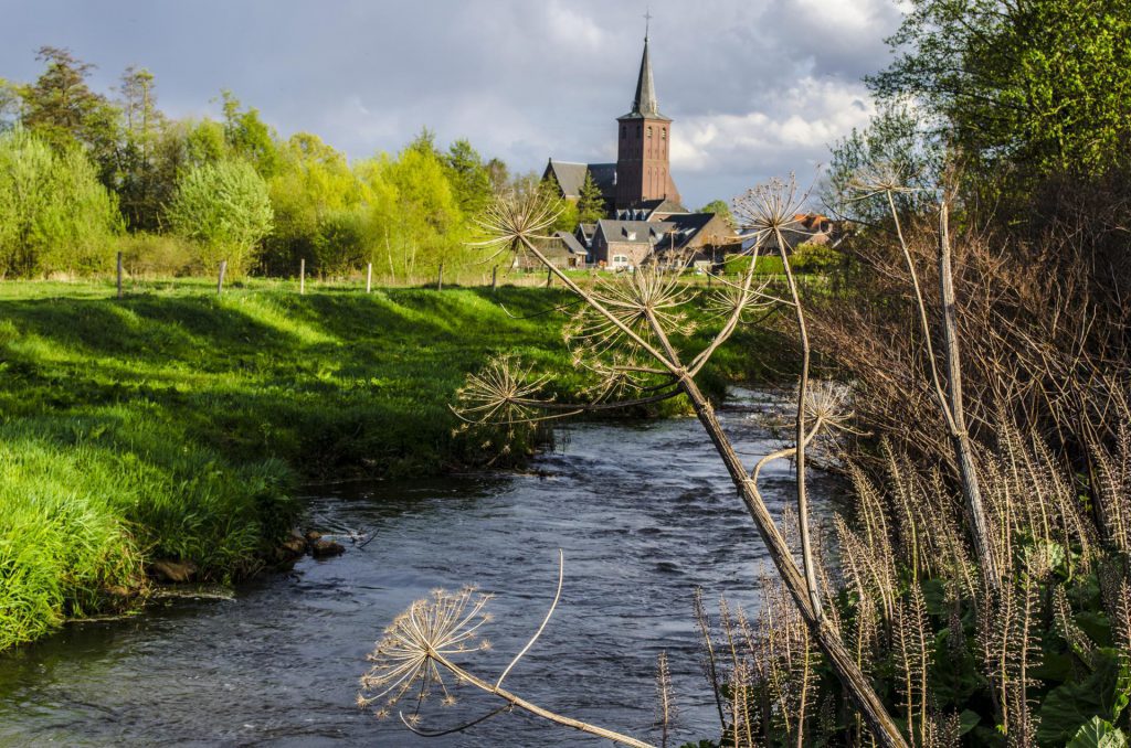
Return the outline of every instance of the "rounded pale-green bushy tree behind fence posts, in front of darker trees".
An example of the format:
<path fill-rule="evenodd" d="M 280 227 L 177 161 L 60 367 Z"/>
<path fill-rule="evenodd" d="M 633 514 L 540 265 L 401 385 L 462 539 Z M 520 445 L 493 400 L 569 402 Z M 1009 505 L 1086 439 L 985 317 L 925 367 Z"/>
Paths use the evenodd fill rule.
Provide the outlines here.
<path fill-rule="evenodd" d="M 243 160 L 196 166 L 181 177 L 169 208 L 173 231 L 200 246 L 208 270 L 227 260 L 233 275 L 247 272 L 274 214 L 267 183 Z"/>

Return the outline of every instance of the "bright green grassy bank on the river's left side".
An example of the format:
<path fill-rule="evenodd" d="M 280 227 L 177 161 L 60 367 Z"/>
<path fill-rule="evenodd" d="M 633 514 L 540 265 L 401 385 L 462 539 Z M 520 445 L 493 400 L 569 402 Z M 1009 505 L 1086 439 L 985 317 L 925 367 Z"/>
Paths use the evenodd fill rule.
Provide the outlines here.
<path fill-rule="evenodd" d="M 300 479 L 474 467 L 447 405 L 492 353 L 580 385 L 554 289 L 106 290 L 0 285 L 0 649 L 129 607 L 155 560 L 254 572 Z M 767 340 L 718 357 L 716 393 L 769 375 Z"/>

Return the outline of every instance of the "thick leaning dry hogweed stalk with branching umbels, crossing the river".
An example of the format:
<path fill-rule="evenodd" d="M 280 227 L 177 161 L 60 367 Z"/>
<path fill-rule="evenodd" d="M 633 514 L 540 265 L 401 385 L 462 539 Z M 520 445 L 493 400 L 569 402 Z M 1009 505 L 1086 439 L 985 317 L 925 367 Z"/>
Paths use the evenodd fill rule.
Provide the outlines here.
<path fill-rule="evenodd" d="M 774 181 L 756 188 L 745 198 L 736 201 L 735 207 L 748 227 L 754 232 L 754 259 L 758 249 L 774 240 L 788 267 L 787 244 L 783 229 L 794 220 L 793 216 L 800 209 L 795 182 L 792 179 L 788 183 Z M 808 345 L 803 345 L 804 364 L 798 386 L 796 444 L 789 451 L 775 455 L 775 458 L 792 455 L 797 466 L 797 514 L 804 572 L 797 568 L 793 554 L 759 492 L 757 478 L 761 466 L 749 470 L 743 464 L 714 408 L 696 383 L 696 375 L 707 364 L 711 354 L 737 329 L 750 305 L 761 298 L 761 292 L 753 284 L 756 262 L 751 262 L 748 271 L 736 284 L 720 279 L 724 286 L 735 289 L 732 295 L 733 310 L 707 348 L 684 360 L 677 350 L 675 336 L 685 332 L 684 320 L 677 308 L 688 297 L 687 292 L 673 278 L 665 276 L 663 269 L 656 264 L 641 267 L 627 278 L 598 282 L 593 288 L 582 288 L 551 263 L 538 249 L 538 241 L 544 238 L 542 232 L 549 228 L 552 220 L 552 211 L 546 208 L 545 199 L 537 193 L 501 198 L 481 220 L 487 237 L 480 243 L 480 246 L 493 250 L 495 254 L 507 251 L 532 254 L 584 302 L 573 330 L 572 340 L 580 341 L 575 353 L 579 362 L 588 362 L 592 371 L 607 377 L 606 389 L 636 388 L 641 392 L 641 397 L 648 398 L 671 397 L 680 392 L 687 395 L 739 489 L 777 573 L 804 621 L 808 635 L 827 658 L 843 682 L 845 692 L 864 715 L 865 722 L 880 745 L 905 746 L 899 729 L 864 677 L 856 659 L 845 646 L 835 624 L 822 616 L 820 588 L 809 531 L 804 473 L 805 445 L 820 428 L 831 426 L 832 421 L 824 419 L 822 423 L 815 418 L 813 429 L 808 429 L 808 416 L 821 407 L 814 405 L 815 401 L 809 392 Z M 805 319 L 792 273 L 788 285 L 792 298 L 774 299 L 774 302 L 794 307 L 798 329 L 804 336 Z M 601 405 L 607 407 L 615 403 Z"/>

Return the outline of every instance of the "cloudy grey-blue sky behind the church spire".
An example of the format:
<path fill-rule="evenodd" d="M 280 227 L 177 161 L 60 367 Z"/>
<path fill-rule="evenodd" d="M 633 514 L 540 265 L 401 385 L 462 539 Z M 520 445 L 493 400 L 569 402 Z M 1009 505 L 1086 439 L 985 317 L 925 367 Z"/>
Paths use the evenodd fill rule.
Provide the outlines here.
<path fill-rule="evenodd" d="M 0 0 L 0 77 L 34 80 L 41 45 L 136 64 L 174 118 L 219 116 L 231 89 L 283 137 L 364 158 L 428 127 L 512 172 L 615 160 L 645 34 L 672 175 L 697 208 L 772 176 L 811 182 L 867 124 L 863 76 L 890 60 L 896 0 Z"/>

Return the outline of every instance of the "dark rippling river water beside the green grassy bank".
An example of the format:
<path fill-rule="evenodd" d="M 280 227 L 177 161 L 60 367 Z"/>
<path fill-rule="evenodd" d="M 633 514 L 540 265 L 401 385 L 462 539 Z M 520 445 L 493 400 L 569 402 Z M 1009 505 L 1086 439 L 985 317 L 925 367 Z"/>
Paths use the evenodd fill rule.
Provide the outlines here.
<path fill-rule="evenodd" d="M 761 426 L 767 410 L 779 402 L 744 392 L 719 414 L 750 463 L 779 445 Z M 0 654 L 0 745 L 608 745 L 518 712 L 426 740 L 354 706 L 373 642 L 433 588 L 495 595 L 493 649 L 465 663 L 498 677 L 545 615 L 559 548 L 561 602 L 507 687 L 657 740 L 654 673 L 666 651 L 676 737 L 717 737 L 694 590 L 711 610 L 723 594 L 753 610 L 752 580 L 768 563 L 722 461 L 694 419 L 587 424 L 558 437 L 530 475 L 309 487 L 309 525 L 343 536 L 343 556 L 304 558 L 228 600 L 167 600 Z M 775 463 L 762 481 L 777 515 L 792 497 L 789 466 Z M 830 511 L 834 489 L 813 481 L 818 512 Z M 351 542 L 346 529 L 372 540 Z M 461 689 L 455 706 L 430 705 L 422 727 L 455 727 L 497 705 Z"/>

